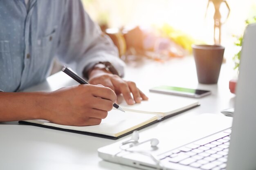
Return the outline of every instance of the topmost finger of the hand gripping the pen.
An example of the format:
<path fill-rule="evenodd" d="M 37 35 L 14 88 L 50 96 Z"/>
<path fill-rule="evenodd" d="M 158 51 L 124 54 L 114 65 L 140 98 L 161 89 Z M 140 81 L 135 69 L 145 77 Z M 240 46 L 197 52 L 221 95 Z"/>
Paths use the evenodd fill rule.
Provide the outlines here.
<path fill-rule="evenodd" d="M 92 95 L 95 97 L 108 99 L 113 103 L 117 100 L 117 95 L 115 94 L 115 92 L 108 87 L 92 85 L 91 88 Z"/>

